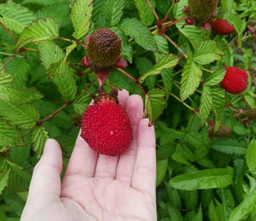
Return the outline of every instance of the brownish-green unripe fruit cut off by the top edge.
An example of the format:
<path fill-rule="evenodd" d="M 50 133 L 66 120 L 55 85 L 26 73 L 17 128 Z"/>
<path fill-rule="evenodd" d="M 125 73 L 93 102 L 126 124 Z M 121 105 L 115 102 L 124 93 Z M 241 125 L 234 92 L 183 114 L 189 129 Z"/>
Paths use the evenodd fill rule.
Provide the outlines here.
<path fill-rule="evenodd" d="M 218 6 L 218 0 L 188 0 L 188 7 L 193 16 L 209 18 Z"/>

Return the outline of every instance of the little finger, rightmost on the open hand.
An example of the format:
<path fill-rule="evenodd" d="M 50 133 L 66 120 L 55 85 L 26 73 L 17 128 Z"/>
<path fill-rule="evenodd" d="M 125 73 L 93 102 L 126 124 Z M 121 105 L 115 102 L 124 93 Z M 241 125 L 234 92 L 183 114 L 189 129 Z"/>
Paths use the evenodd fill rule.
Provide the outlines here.
<path fill-rule="evenodd" d="M 138 152 L 132 187 L 149 195 L 154 195 L 156 188 L 155 131 L 154 126 L 149 127 L 148 123 L 148 119 L 143 119 L 138 125 Z"/>

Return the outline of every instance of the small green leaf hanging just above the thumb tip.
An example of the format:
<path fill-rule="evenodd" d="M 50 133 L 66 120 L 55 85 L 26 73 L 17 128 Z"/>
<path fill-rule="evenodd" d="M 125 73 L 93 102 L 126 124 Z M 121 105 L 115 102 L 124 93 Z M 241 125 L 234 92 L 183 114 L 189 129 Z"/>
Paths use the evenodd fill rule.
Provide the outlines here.
<path fill-rule="evenodd" d="M 33 144 L 33 150 L 37 154 L 37 158 L 41 157 L 43 153 L 44 144 L 49 138 L 47 131 L 43 126 L 37 126 L 31 134 L 31 142 Z"/>

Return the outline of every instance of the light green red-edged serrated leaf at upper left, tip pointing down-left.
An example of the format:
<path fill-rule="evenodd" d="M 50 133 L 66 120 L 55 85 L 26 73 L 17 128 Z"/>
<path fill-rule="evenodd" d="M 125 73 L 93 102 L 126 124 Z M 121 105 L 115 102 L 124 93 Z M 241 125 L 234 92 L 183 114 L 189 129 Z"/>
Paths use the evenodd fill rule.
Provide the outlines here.
<path fill-rule="evenodd" d="M 28 43 L 49 41 L 59 36 L 59 27 L 53 18 L 47 17 L 46 20 L 38 19 L 33 21 L 21 33 L 16 43 L 15 51 Z"/>

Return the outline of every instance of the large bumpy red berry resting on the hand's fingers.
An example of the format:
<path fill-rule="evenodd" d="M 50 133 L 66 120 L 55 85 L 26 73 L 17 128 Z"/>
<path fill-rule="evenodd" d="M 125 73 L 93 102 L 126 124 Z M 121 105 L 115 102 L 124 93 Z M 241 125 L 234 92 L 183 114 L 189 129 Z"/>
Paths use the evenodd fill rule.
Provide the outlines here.
<path fill-rule="evenodd" d="M 108 94 L 98 96 L 95 102 L 87 107 L 82 116 L 81 137 L 93 150 L 108 156 L 119 156 L 133 139 L 128 114 Z"/>

